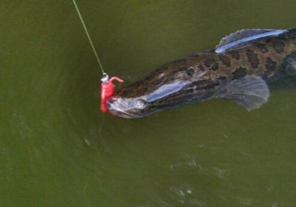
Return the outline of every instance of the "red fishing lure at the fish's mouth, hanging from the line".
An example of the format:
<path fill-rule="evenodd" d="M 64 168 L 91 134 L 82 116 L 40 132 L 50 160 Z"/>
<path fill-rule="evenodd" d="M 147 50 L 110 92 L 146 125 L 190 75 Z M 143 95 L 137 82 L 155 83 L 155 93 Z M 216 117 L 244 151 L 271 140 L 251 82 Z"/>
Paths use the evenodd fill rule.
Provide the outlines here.
<path fill-rule="evenodd" d="M 119 77 L 111 77 L 109 79 L 108 75 L 105 73 L 101 79 L 101 111 L 104 113 L 108 112 L 107 101 L 115 95 L 115 84 L 112 81 L 119 81 L 120 83 L 124 80 Z"/>

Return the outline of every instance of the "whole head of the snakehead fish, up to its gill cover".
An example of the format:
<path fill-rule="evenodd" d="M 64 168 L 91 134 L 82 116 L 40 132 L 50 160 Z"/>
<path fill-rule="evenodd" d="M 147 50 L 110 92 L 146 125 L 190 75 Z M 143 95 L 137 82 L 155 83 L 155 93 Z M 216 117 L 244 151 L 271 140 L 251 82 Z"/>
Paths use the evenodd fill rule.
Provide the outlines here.
<path fill-rule="evenodd" d="M 199 87 L 199 81 L 202 85 L 208 81 L 208 70 L 198 66 L 209 54 L 204 52 L 199 57 L 168 63 L 130 86 L 121 88 L 117 95 L 107 101 L 109 112 L 117 117 L 140 118 L 204 99 L 208 91 L 196 88 Z"/>

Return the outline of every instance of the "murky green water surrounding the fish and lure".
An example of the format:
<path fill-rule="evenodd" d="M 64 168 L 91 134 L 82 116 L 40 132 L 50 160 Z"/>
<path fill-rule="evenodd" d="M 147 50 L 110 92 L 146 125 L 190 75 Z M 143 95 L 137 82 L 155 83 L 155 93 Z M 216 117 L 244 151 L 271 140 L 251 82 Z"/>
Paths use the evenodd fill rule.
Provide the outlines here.
<path fill-rule="evenodd" d="M 125 84 L 235 30 L 296 27 L 295 1 L 77 3 Z M 295 90 L 103 122 L 72 1 L 4 0 L 0 17 L 0 206 L 295 206 Z"/>

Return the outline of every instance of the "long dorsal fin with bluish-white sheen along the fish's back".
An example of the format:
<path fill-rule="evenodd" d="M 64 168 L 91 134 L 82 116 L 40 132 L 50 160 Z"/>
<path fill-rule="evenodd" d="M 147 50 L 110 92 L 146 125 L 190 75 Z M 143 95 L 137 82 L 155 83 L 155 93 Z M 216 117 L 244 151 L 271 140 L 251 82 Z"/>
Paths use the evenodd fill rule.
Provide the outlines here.
<path fill-rule="evenodd" d="M 229 34 L 221 39 L 219 45 L 216 47 L 216 52 L 224 52 L 228 49 L 237 48 L 248 41 L 260 39 L 262 37 L 272 37 L 288 32 L 288 30 L 268 30 L 268 29 L 250 29 L 238 30 L 235 33 Z"/>

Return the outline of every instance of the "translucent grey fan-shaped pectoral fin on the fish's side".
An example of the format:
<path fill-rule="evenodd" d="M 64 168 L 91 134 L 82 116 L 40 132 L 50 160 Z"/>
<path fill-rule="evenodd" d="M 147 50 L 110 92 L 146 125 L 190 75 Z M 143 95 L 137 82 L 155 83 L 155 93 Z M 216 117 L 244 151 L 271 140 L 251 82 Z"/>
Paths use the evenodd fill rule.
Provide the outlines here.
<path fill-rule="evenodd" d="M 246 110 L 253 110 L 268 101 L 269 88 L 262 78 L 247 75 L 228 83 L 217 92 L 216 97 L 233 100 Z"/>

